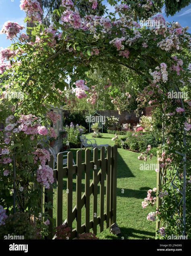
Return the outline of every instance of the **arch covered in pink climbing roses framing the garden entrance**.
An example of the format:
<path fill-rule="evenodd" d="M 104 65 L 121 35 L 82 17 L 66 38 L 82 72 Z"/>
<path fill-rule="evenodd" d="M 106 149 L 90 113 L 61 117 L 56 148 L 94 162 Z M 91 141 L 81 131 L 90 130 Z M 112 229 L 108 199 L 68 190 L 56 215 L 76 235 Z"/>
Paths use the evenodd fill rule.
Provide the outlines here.
<path fill-rule="evenodd" d="M 97 0 L 89 2 L 92 9 L 96 9 Z M 116 4 L 116 1 L 109 2 Z M 144 4 L 140 1 L 135 6 L 121 1 L 115 6 L 115 13 L 105 17 L 92 14 L 81 17 L 71 0 L 62 0 L 60 9 L 54 11 L 60 22 L 49 27 L 42 24 L 42 8 L 37 0 L 21 0 L 20 6 L 27 14 L 25 21 L 30 24 L 26 34 L 21 32 L 22 26 L 10 21 L 4 24 L 1 31 L 13 42 L 10 48 L 0 52 L 0 122 L 4 124 L 0 131 L 0 166 L 1 184 L 6 184 L 3 189 L 7 195 L 1 205 L 7 208 L 6 214 L 12 212 L 10 191 L 14 165 L 17 168 L 14 193 L 17 204 L 21 211 L 25 211 L 30 204 L 30 214 L 38 216 L 39 208 L 33 199 L 37 197 L 37 192 L 39 198 L 43 192 L 40 186 L 31 189 L 30 184 L 42 184 L 49 188 L 53 183 L 52 169 L 46 165 L 50 155 L 46 149 L 36 146 L 44 136 L 55 136 L 51 129 L 45 127 L 47 118 L 49 122 L 54 121 L 46 113 L 47 108 L 50 104 L 63 103 L 66 89 L 71 87 L 76 88 L 75 94 L 79 99 L 87 97 L 87 101 L 94 102 L 96 85 L 91 84 L 88 71 L 111 63 L 112 67 L 116 65 L 119 76 L 120 67 L 124 66 L 129 69 L 128 79 L 138 81 L 133 92 L 138 103 L 136 113 L 147 103 L 157 103 L 163 113 L 164 138 L 159 161 L 166 181 L 161 192 L 165 197 L 162 196 L 162 208 L 154 214 L 150 213 L 148 219 L 154 220 L 156 215 L 161 219 L 160 237 L 174 232 L 185 234 L 185 230 L 189 235 L 191 36 L 187 27 L 167 23 L 162 15 L 152 18 L 153 24 L 157 21 L 158 27 L 149 27 L 148 24 L 141 27 L 140 22 L 133 20 L 137 12 L 148 18 L 161 8 L 151 0 Z M 133 12 L 135 9 L 136 12 Z M 69 77 L 68 84 L 66 80 Z M 169 98 L 168 92 L 172 90 L 186 90 L 188 99 Z M 17 96 L 12 97 L 15 92 Z M 18 94 L 20 92 L 22 97 Z M 126 93 L 129 104 L 131 95 Z M 117 104 L 118 99 L 116 97 L 113 103 Z M 173 182 L 176 189 L 172 186 Z M 185 210 L 182 210 L 185 202 L 181 194 L 185 194 L 185 188 L 188 206 L 186 226 Z M 154 203 L 152 191 L 149 193 L 143 202 L 144 208 Z M 179 201 L 181 203 L 177 206 Z M 6 217 L 4 210 L 0 211 L 0 216 L 3 216 L 3 223 Z"/>

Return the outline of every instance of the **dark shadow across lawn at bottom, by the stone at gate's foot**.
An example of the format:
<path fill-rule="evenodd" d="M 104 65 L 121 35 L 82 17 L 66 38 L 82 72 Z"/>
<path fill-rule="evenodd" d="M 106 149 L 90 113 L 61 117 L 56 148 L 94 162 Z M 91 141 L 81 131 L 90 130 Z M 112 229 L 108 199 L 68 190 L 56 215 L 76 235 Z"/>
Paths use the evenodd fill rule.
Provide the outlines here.
<path fill-rule="evenodd" d="M 135 239 L 155 239 L 155 233 L 131 228 L 120 227 L 121 233 L 117 236 L 107 235 L 107 239 L 129 239 L 129 237 L 135 237 Z M 145 237 L 144 237 L 145 236 Z"/>

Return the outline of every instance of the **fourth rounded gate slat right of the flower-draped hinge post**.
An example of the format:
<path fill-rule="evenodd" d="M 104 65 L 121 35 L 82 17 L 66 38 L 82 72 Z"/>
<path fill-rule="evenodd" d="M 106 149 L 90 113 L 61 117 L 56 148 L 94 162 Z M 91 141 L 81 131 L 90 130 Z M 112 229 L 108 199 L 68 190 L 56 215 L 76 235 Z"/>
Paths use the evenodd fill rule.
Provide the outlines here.
<path fill-rule="evenodd" d="M 90 150 L 85 150 L 85 232 L 89 233 L 89 211 L 90 211 Z"/>

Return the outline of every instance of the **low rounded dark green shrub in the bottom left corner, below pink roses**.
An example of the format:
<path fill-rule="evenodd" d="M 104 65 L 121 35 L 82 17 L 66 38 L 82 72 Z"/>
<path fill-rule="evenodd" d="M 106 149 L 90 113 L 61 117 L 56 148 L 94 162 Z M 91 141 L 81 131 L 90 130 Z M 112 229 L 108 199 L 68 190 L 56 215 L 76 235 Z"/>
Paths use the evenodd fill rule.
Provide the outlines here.
<path fill-rule="evenodd" d="M 24 239 L 37 239 L 37 229 L 33 222 L 29 220 L 29 214 L 26 212 L 16 212 L 9 215 L 5 224 L 0 226 L 0 239 L 5 235 L 23 235 Z"/>

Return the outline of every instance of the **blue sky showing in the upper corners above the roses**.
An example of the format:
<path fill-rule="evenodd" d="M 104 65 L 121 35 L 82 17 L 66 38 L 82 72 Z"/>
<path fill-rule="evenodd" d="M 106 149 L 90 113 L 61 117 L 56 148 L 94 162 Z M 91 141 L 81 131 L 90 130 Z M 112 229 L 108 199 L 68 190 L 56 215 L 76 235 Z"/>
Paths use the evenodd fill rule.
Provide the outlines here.
<path fill-rule="evenodd" d="M 103 1 L 106 2 L 106 1 Z M 0 30 L 6 21 L 14 21 L 20 25 L 25 25 L 23 20 L 25 18 L 25 12 L 20 10 L 20 0 L 0 0 Z M 108 6 L 111 11 L 114 10 L 112 6 Z M 162 15 L 166 18 L 163 8 Z M 189 32 L 191 33 L 191 4 L 183 8 L 179 13 L 176 13 L 173 17 L 166 18 L 167 21 L 178 21 L 183 27 L 189 26 Z M 0 48 L 6 48 L 11 44 L 10 40 L 6 39 L 4 34 L 0 34 Z"/>

